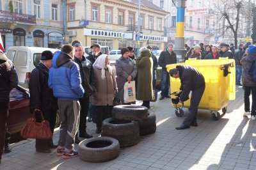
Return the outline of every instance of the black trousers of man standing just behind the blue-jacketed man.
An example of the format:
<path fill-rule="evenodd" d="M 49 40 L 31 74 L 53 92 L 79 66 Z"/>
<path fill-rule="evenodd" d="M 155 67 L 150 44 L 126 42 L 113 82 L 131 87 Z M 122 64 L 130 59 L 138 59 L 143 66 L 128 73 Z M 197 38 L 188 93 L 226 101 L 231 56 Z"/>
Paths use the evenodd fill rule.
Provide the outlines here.
<path fill-rule="evenodd" d="M 90 97 L 83 97 L 79 99 L 81 105 L 80 120 L 79 120 L 79 133 L 86 132 L 86 117 L 89 111 Z"/>

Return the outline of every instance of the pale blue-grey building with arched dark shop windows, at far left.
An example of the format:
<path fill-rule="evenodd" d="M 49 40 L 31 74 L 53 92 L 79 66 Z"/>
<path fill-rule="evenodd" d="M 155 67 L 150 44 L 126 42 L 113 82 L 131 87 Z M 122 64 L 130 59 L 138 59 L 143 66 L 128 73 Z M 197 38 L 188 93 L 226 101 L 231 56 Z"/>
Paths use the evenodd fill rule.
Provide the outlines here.
<path fill-rule="evenodd" d="M 1 0 L 0 33 L 4 48 L 60 48 L 63 45 L 64 5 L 61 0 Z"/>

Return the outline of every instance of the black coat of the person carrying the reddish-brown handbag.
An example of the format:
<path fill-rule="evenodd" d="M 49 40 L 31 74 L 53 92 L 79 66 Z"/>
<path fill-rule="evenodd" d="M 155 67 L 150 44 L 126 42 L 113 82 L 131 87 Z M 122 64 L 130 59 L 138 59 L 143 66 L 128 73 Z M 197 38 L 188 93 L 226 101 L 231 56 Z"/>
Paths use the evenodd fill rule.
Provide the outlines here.
<path fill-rule="evenodd" d="M 29 109 L 33 113 L 35 109 L 42 112 L 58 109 L 57 98 L 53 96 L 52 89 L 48 86 L 49 68 L 43 63 L 36 65 L 31 72 L 29 80 Z"/>

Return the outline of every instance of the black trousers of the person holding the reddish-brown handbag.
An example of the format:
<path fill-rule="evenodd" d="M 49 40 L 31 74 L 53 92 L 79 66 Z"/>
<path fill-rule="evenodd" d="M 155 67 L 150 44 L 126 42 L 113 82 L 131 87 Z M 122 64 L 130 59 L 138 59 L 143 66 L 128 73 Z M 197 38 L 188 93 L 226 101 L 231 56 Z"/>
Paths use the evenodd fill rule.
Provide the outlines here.
<path fill-rule="evenodd" d="M 50 123 L 50 128 L 51 128 L 52 134 L 54 132 L 54 127 L 55 127 L 55 123 L 56 123 L 56 112 L 57 111 L 55 109 L 42 112 L 44 119 L 49 121 L 49 123 Z M 36 116 L 36 122 L 42 121 L 40 112 L 36 112 L 35 116 Z M 36 139 L 36 149 L 46 150 L 52 144 L 53 144 L 52 139 Z"/>

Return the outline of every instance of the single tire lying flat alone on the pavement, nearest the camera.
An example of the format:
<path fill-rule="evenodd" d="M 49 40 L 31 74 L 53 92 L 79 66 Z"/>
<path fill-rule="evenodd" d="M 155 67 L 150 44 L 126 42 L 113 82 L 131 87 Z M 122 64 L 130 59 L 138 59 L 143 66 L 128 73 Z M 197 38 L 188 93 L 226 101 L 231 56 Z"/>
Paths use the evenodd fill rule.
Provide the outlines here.
<path fill-rule="evenodd" d="M 95 141 L 108 141 L 109 146 L 102 148 L 89 148 L 88 144 Z M 86 162 L 106 162 L 118 157 L 120 152 L 120 144 L 112 137 L 92 137 L 81 141 L 77 148 L 79 158 Z"/>

